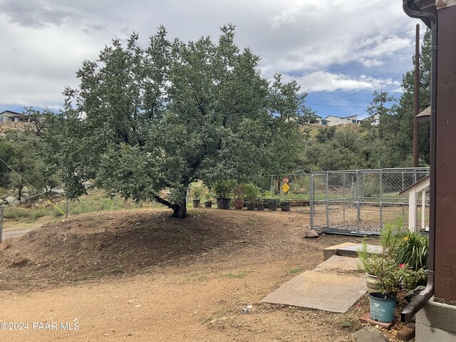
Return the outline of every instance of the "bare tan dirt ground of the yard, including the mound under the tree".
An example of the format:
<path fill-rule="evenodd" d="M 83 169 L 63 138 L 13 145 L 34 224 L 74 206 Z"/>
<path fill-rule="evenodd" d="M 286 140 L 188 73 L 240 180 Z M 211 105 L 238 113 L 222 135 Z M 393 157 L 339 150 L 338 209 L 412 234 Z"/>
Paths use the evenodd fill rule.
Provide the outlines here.
<path fill-rule="evenodd" d="M 347 314 L 260 303 L 321 263 L 323 248 L 361 242 L 304 239 L 309 215 L 293 210 L 192 209 L 180 220 L 149 209 L 45 224 L 0 245 L 0 341 L 350 341 L 366 296 Z"/>

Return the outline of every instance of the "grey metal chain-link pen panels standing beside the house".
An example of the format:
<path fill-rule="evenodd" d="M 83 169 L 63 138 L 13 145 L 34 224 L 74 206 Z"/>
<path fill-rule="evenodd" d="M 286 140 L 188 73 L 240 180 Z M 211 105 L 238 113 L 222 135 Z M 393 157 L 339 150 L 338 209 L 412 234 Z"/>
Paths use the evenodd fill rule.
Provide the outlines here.
<path fill-rule="evenodd" d="M 407 226 L 408 194 L 400 192 L 429 172 L 427 167 L 312 172 L 311 228 L 334 234 L 378 235 L 388 223 Z M 420 201 L 418 205 L 422 204 Z M 425 222 L 428 222 L 428 194 L 425 208 Z"/>

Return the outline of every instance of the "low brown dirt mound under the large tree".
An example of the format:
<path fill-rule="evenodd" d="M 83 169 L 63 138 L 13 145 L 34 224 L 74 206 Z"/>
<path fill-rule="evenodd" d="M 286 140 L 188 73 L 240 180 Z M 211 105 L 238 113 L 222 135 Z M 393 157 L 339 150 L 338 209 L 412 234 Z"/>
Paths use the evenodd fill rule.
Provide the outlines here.
<path fill-rule="evenodd" d="M 182 220 L 168 210 L 135 210 L 45 224 L 0 251 L 1 287 L 42 287 L 200 262 L 219 247 L 230 254 L 264 239 L 262 229 L 254 229 L 263 215 L 201 209 Z M 268 224 L 274 223 L 279 222 L 269 217 Z"/>

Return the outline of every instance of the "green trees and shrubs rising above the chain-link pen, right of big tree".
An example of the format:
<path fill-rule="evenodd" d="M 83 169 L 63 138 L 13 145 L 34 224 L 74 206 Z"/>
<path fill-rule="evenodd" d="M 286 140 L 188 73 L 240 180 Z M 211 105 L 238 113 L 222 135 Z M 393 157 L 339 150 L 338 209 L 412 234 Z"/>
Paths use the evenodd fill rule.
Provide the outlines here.
<path fill-rule="evenodd" d="M 430 31 L 420 53 L 420 110 L 430 105 Z M 403 76 L 399 100 L 375 91 L 368 115 L 380 123 L 306 128 L 297 172 L 410 167 L 413 164 L 414 69 Z M 420 123 L 420 166 L 429 164 L 429 123 Z"/>

